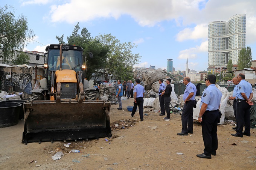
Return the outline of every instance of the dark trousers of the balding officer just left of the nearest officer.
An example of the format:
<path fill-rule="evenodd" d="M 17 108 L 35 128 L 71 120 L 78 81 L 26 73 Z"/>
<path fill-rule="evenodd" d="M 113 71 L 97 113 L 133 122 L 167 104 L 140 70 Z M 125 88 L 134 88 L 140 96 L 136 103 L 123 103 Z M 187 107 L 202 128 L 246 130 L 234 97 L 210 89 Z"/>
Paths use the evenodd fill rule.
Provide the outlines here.
<path fill-rule="evenodd" d="M 195 100 L 186 101 L 181 114 L 182 129 L 181 132 L 193 132 L 193 111 Z"/>

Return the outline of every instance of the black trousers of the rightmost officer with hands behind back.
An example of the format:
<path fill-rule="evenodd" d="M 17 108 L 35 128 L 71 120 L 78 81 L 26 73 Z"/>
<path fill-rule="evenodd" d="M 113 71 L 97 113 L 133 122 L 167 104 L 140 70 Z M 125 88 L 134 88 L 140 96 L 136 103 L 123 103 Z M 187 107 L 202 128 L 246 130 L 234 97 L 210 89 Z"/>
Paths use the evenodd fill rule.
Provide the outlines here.
<path fill-rule="evenodd" d="M 236 134 L 243 135 L 243 128 L 245 133 L 250 133 L 250 108 L 245 100 L 236 103 Z"/>

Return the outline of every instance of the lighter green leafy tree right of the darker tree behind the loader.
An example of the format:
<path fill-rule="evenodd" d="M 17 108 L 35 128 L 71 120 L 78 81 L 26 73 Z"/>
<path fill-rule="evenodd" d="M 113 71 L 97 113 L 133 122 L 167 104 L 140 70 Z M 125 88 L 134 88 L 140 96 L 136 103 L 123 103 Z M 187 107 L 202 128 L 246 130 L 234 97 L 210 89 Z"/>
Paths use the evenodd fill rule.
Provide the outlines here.
<path fill-rule="evenodd" d="M 101 43 L 108 46 L 107 62 L 105 63 L 105 80 L 107 75 L 111 75 L 115 79 L 127 80 L 133 76 L 133 66 L 139 62 L 141 58 L 139 54 L 133 54 L 132 49 L 136 48 L 131 42 L 120 42 L 111 34 L 99 35 L 96 37 Z"/>

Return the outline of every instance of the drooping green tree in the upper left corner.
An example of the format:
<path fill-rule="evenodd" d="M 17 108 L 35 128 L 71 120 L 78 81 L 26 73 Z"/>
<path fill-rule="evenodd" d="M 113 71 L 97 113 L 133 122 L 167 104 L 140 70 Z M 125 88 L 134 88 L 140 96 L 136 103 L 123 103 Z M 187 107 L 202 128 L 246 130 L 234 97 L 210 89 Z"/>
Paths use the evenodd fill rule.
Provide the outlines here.
<path fill-rule="evenodd" d="M 14 9 L 7 5 L 0 7 L 0 54 L 3 62 L 13 60 L 15 50 L 22 50 L 35 36 L 28 27 L 27 18 L 20 15 L 16 19 L 14 10 L 9 11 L 9 8 Z"/>

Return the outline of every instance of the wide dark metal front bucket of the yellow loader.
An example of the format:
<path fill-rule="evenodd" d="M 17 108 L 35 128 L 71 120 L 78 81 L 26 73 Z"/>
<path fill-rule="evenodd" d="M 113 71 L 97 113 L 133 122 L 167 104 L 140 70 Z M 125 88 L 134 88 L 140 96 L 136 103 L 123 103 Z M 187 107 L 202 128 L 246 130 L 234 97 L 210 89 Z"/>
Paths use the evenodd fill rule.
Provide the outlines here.
<path fill-rule="evenodd" d="M 110 106 L 104 101 L 25 102 L 22 142 L 111 137 Z"/>

